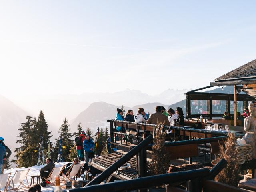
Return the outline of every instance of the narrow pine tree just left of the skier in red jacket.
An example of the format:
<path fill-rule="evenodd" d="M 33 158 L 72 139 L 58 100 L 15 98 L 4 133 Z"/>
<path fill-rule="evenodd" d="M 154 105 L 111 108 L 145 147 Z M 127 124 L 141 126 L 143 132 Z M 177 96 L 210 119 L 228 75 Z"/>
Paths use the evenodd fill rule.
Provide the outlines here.
<path fill-rule="evenodd" d="M 63 121 L 63 124 L 60 127 L 60 133 L 59 138 L 56 140 L 56 147 L 59 146 L 58 140 L 62 139 L 62 158 L 63 161 L 68 161 L 68 155 L 70 153 L 70 148 L 73 146 L 73 141 L 72 141 L 72 136 L 73 134 L 70 133 L 69 125 L 68 125 L 68 120 L 65 118 Z"/>

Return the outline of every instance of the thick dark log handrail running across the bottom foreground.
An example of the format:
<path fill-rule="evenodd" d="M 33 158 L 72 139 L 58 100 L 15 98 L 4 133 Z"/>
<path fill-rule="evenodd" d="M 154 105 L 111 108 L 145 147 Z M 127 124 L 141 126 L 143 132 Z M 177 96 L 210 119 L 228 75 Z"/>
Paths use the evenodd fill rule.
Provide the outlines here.
<path fill-rule="evenodd" d="M 172 184 L 176 182 L 193 180 L 195 178 L 204 178 L 209 175 L 210 175 L 210 170 L 208 168 L 200 168 L 196 170 L 166 173 L 166 174 L 136 178 L 132 180 L 110 182 L 110 183 L 101 184 L 101 185 L 91 185 L 91 186 L 86 185 L 84 188 L 76 188 L 76 189 L 71 189 L 69 191 L 70 192 L 86 192 L 86 191 L 117 192 L 122 190 L 136 190 L 136 189 L 142 189 L 142 188 L 150 188 L 154 186 L 161 186 L 164 184 Z"/>

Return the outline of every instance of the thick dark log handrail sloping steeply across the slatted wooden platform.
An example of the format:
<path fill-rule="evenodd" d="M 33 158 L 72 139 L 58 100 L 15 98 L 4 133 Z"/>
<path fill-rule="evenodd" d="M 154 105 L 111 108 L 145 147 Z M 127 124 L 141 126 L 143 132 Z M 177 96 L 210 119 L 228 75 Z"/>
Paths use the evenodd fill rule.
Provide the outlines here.
<path fill-rule="evenodd" d="M 134 147 L 132 150 L 130 150 L 127 154 L 122 156 L 119 160 L 114 162 L 109 168 L 107 168 L 104 172 L 102 172 L 99 176 L 94 178 L 91 182 L 89 182 L 86 186 L 100 184 L 104 179 L 106 179 L 108 176 L 110 176 L 112 173 L 114 173 L 120 166 L 122 166 L 124 163 L 126 163 L 128 160 L 130 160 L 134 155 L 138 154 L 140 150 L 148 146 L 153 140 L 153 137 L 150 135 L 147 138 L 145 138 L 142 142 L 140 142 L 136 147 Z"/>

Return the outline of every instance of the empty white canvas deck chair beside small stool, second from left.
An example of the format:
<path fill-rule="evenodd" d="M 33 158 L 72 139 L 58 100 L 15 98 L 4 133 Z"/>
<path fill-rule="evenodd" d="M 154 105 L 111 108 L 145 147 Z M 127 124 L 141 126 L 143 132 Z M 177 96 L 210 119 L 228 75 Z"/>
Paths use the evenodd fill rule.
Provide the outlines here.
<path fill-rule="evenodd" d="M 13 177 L 11 179 L 12 186 L 10 186 L 10 188 L 12 188 L 14 191 L 19 190 L 19 189 L 23 189 L 23 188 L 28 189 L 29 188 L 29 184 L 28 184 L 27 174 L 28 174 L 29 170 L 30 169 L 17 170 L 14 173 L 14 175 L 13 175 Z M 24 179 L 26 179 L 26 182 L 27 182 L 26 185 L 27 186 L 23 183 Z M 15 188 L 15 186 L 14 186 L 15 184 L 19 185 L 18 188 Z M 23 185 L 22 188 L 20 188 L 21 185 Z"/>

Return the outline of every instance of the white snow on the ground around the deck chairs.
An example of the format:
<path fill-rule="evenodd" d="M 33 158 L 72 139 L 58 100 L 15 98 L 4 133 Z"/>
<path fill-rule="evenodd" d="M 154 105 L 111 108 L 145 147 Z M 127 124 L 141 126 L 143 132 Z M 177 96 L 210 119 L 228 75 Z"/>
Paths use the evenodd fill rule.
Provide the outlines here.
<path fill-rule="evenodd" d="M 55 163 L 55 167 L 59 167 L 59 166 L 64 166 L 66 165 L 68 162 L 62 162 L 62 163 Z M 30 167 L 30 170 L 28 172 L 28 175 L 27 175 L 27 178 L 28 178 L 28 186 L 30 186 L 30 181 L 31 181 L 31 176 L 33 175 L 40 175 L 40 168 L 44 167 L 45 165 L 40 165 L 40 166 L 33 166 L 33 167 Z M 16 172 L 16 170 L 26 170 L 26 169 L 29 169 L 29 168 L 25 168 L 25 167 L 22 167 L 22 168 L 12 168 L 12 169 L 8 169 L 8 170 L 4 170 L 4 173 L 12 173 L 11 176 L 14 174 L 14 172 Z M 41 179 L 40 179 L 41 181 Z M 23 183 L 27 186 L 27 181 L 26 181 L 26 178 L 24 179 Z M 35 178 L 35 183 L 36 184 L 36 178 Z M 12 185 L 12 183 L 11 183 Z M 33 184 L 32 184 L 33 185 Z M 15 188 L 18 187 L 18 184 L 14 184 Z M 54 186 L 51 186 L 51 185 L 47 185 L 46 187 L 41 187 L 41 191 L 42 192 L 48 192 L 48 191 L 52 191 L 54 190 Z M 1 191 L 4 191 L 4 188 L 1 188 Z M 13 190 L 11 190 L 12 192 L 14 192 Z M 19 190 L 20 191 L 20 190 Z M 22 191 L 27 191 L 27 189 L 23 189 Z"/>

